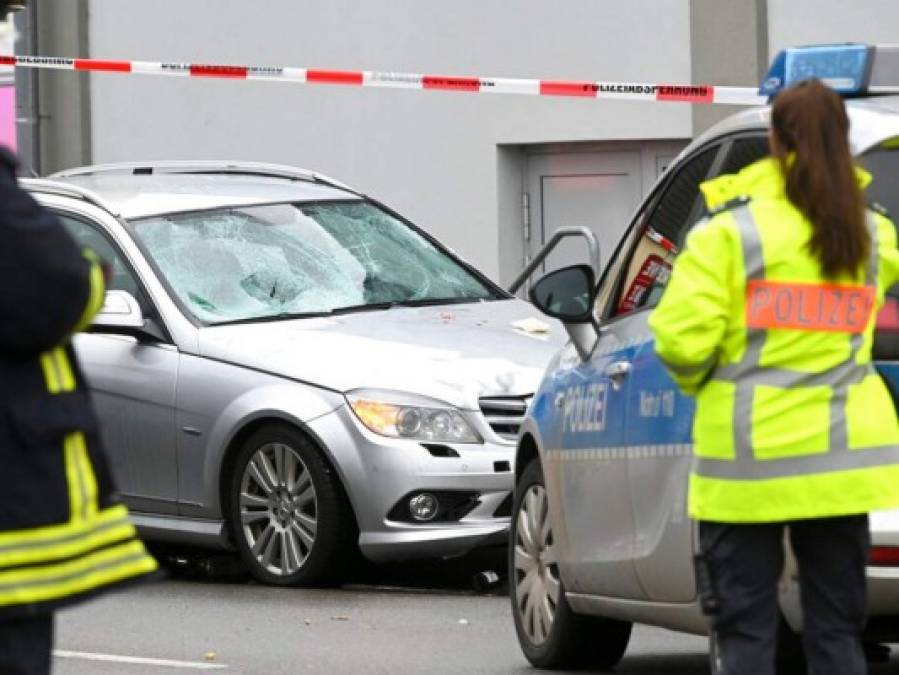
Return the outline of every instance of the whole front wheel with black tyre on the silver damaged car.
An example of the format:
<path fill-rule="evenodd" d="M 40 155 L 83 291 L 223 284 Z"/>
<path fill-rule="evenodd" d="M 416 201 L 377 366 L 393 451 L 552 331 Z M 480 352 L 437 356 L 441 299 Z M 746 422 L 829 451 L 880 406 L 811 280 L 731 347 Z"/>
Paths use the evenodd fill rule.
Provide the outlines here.
<path fill-rule="evenodd" d="M 340 479 L 294 427 L 272 424 L 246 439 L 229 506 L 237 549 L 262 583 L 339 583 L 354 559 L 356 523 Z"/>

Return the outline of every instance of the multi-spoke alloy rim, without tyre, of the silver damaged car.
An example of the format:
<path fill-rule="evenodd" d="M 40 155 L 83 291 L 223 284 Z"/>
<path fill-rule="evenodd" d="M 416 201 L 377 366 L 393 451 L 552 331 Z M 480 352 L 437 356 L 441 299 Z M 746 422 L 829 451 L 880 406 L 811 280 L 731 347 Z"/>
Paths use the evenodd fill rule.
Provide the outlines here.
<path fill-rule="evenodd" d="M 284 443 L 252 454 L 240 481 L 240 518 L 250 552 L 272 574 L 287 576 L 315 546 L 318 499 L 300 455 Z"/>

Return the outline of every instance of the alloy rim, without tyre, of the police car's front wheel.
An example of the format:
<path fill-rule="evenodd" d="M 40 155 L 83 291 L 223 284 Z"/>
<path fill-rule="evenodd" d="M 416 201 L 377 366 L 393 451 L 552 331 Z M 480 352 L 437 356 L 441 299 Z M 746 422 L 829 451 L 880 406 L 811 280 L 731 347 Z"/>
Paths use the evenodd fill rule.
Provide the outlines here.
<path fill-rule="evenodd" d="M 552 630 L 561 583 L 542 485 L 531 485 L 517 514 L 513 566 L 515 602 L 521 625 L 533 645 L 543 644 Z"/>

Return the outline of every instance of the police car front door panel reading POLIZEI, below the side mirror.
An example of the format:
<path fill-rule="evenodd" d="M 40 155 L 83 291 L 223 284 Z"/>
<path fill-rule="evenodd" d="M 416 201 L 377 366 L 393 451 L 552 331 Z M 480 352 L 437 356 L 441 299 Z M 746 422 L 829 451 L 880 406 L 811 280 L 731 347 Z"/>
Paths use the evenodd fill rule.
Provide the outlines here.
<path fill-rule="evenodd" d="M 620 326 L 603 333 L 584 361 L 569 343 L 542 385 L 535 417 L 543 432 L 544 475 L 566 590 L 635 597 L 634 523 L 623 461 L 627 382 L 616 374 L 625 358 Z M 547 400 L 545 413 L 539 401 Z M 540 421 L 545 414 L 545 421 Z"/>

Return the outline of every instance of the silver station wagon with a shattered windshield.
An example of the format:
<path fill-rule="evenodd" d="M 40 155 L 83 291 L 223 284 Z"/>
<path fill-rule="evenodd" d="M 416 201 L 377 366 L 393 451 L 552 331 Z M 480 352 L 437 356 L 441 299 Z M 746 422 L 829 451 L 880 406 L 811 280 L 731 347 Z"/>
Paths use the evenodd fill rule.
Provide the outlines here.
<path fill-rule="evenodd" d="M 144 537 L 272 584 L 504 543 L 560 328 L 318 174 L 95 166 L 24 181 L 109 264 L 75 347 Z"/>

